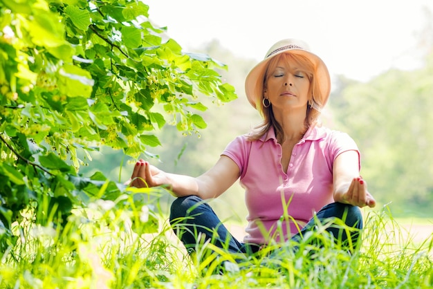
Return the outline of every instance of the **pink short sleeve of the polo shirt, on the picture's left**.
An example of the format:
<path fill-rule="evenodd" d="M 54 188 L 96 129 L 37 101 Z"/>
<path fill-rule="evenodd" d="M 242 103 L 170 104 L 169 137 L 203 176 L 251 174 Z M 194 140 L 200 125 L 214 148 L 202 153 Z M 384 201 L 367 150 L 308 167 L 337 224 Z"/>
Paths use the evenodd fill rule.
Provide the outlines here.
<path fill-rule="evenodd" d="M 221 156 L 228 156 L 236 163 L 239 167 L 241 178 L 245 175 L 246 168 L 248 167 L 250 149 L 251 142 L 247 140 L 246 136 L 237 136 L 221 153 Z"/>

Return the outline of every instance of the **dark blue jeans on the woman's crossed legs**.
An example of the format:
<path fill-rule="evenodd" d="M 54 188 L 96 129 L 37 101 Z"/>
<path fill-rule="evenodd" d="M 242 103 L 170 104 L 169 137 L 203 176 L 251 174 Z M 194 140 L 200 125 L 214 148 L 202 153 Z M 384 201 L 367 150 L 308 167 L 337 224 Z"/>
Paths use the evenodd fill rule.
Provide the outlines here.
<path fill-rule="evenodd" d="M 351 242 L 356 245 L 362 229 L 360 208 L 343 203 L 331 203 L 322 207 L 292 239 L 301 241 L 306 232 L 316 230 L 317 222 L 329 223 L 330 218 L 338 218 L 348 227 L 356 229 L 350 230 Z M 228 252 L 248 255 L 256 253 L 261 245 L 239 242 L 221 223 L 212 207 L 198 196 L 176 198 L 172 203 L 169 220 L 176 236 L 181 239 L 189 253 L 194 252 L 196 245 L 204 241 L 210 241 Z M 345 242 L 348 239 L 347 232 L 341 225 L 326 226 L 326 231 L 331 233 L 335 240 Z"/>

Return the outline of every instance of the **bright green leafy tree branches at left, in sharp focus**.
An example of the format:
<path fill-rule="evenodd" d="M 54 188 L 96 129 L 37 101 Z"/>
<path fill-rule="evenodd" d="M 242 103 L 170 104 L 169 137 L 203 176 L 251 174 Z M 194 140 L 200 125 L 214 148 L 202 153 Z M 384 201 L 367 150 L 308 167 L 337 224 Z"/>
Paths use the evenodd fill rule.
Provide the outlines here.
<path fill-rule="evenodd" d="M 201 102 L 236 98 L 225 65 L 184 53 L 133 0 L 0 1 L 0 239 L 24 209 L 62 221 L 124 186 L 77 174 L 101 145 L 137 157 L 166 124 L 206 127 Z M 84 151 L 84 158 L 80 158 Z"/>

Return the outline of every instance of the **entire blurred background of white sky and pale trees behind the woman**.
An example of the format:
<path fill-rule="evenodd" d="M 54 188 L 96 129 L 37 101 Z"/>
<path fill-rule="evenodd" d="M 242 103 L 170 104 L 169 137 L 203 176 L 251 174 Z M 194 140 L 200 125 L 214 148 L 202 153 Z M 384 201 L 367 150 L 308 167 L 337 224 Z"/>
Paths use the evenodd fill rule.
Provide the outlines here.
<path fill-rule="evenodd" d="M 226 145 L 261 122 L 246 101 L 246 75 L 279 39 L 301 38 L 322 57 L 333 89 L 322 122 L 345 131 L 362 153 L 363 178 L 380 209 L 393 216 L 432 218 L 433 1 L 199 1 L 148 0 L 149 19 L 167 27 L 185 52 L 223 62 L 220 73 L 238 99 L 202 113 L 208 128 L 183 136 L 158 132 L 162 147 L 148 158 L 160 169 L 199 176 Z M 207 100 L 203 100 L 205 103 Z M 125 182 L 133 161 L 102 147 L 81 174 L 102 171 Z M 172 196 L 161 199 L 162 207 Z M 212 207 L 224 220 L 245 222 L 243 190 L 236 183 Z"/>

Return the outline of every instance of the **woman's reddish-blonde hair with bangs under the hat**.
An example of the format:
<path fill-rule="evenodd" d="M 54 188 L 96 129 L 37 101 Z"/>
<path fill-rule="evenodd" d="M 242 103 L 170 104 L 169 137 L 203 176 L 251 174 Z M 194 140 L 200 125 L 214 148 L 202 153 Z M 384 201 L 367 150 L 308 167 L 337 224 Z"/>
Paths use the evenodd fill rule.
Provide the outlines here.
<path fill-rule="evenodd" d="M 308 80 L 310 80 L 310 88 L 308 89 L 308 95 L 311 97 L 308 98 L 308 106 L 306 109 L 306 118 L 304 120 L 305 129 L 308 127 L 317 124 L 318 119 L 320 117 L 320 113 L 324 106 L 324 97 L 327 95 L 321 95 L 319 85 L 317 84 L 317 80 L 315 77 L 315 66 L 314 64 L 303 55 L 293 55 L 291 53 L 282 53 L 276 55 L 268 62 L 268 66 L 266 67 L 266 71 L 263 75 L 263 83 L 257 84 L 261 87 L 265 88 L 270 77 L 269 71 L 273 71 L 277 66 L 277 63 L 282 60 L 285 62 L 291 62 L 295 64 L 295 66 L 301 68 L 308 75 Z M 264 91 L 261 92 L 262 95 Z M 257 97 L 258 98 L 258 97 Z M 272 105 L 265 107 L 263 105 L 263 96 L 257 99 L 256 109 L 259 111 L 261 117 L 263 118 L 263 122 L 257 125 L 248 135 L 248 140 L 259 140 L 262 136 L 264 136 L 269 129 L 275 129 L 275 136 L 284 136 L 284 132 L 282 130 L 281 125 L 275 120 L 275 116 L 273 113 Z"/>

